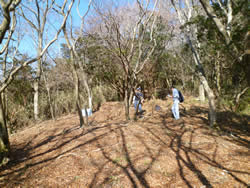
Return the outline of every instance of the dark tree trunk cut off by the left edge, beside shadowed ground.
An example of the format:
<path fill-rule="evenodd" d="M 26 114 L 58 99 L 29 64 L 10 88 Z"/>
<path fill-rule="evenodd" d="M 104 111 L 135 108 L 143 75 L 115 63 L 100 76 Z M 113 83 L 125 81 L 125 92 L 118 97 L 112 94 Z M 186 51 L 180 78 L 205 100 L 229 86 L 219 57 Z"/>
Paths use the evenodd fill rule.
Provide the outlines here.
<path fill-rule="evenodd" d="M 6 116 L 3 108 L 2 93 L 0 94 L 0 166 L 8 162 L 10 149 Z"/>

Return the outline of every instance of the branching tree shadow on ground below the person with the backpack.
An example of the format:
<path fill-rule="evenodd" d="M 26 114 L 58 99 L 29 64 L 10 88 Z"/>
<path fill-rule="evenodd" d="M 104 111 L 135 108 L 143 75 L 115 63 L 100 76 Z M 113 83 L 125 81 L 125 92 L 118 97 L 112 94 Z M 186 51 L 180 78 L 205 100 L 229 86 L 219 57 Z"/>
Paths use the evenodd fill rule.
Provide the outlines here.
<path fill-rule="evenodd" d="M 178 131 L 176 129 L 171 128 L 171 126 L 169 126 L 169 123 L 167 123 L 165 121 L 165 118 L 162 119 L 162 125 L 163 128 L 168 130 L 168 132 L 171 132 L 172 134 L 167 134 L 167 136 L 170 138 L 170 148 L 171 150 L 176 154 L 176 161 L 179 167 L 179 174 L 181 176 L 181 178 L 183 179 L 183 181 L 186 183 L 186 185 L 188 187 L 193 187 L 191 180 L 188 180 L 188 178 L 186 178 L 185 174 L 184 174 L 184 166 L 187 167 L 190 171 L 192 171 L 194 173 L 194 175 L 199 179 L 199 181 L 205 185 L 206 187 L 213 187 L 211 182 L 209 181 L 209 179 L 206 177 L 206 175 L 204 173 L 202 173 L 202 171 L 199 169 L 199 165 L 196 164 L 195 161 L 192 160 L 191 156 L 196 157 L 197 159 L 201 160 L 203 163 L 220 169 L 220 170 L 224 170 L 226 171 L 232 178 L 234 178 L 237 182 L 239 182 L 240 184 L 244 185 L 244 186 L 248 186 L 246 182 L 244 182 L 243 180 L 241 180 L 240 178 L 237 177 L 237 175 L 235 174 L 247 174 L 250 175 L 249 172 L 245 172 L 245 171 L 240 171 L 240 170 L 234 170 L 234 169 L 230 169 L 227 168 L 225 166 L 223 166 L 222 164 L 220 164 L 219 162 L 216 161 L 216 155 L 217 155 L 217 148 L 218 148 L 218 143 L 216 141 L 216 137 L 214 137 L 214 143 L 216 148 L 214 149 L 213 154 L 211 155 L 212 157 L 209 157 L 208 155 L 206 155 L 205 153 L 201 152 L 199 149 L 196 149 L 193 146 L 193 140 L 194 137 L 196 136 L 196 131 L 198 129 L 206 129 L 206 127 L 202 127 L 199 126 L 195 129 L 189 129 L 189 128 L 185 128 L 185 122 L 183 122 L 181 129 L 179 129 Z M 190 132 L 190 136 L 189 136 L 189 142 L 185 142 L 183 136 L 187 133 Z M 152 133 L 154 134 L 154 133 Z M 157 135 L 155 135 L 157 137 Z"/>

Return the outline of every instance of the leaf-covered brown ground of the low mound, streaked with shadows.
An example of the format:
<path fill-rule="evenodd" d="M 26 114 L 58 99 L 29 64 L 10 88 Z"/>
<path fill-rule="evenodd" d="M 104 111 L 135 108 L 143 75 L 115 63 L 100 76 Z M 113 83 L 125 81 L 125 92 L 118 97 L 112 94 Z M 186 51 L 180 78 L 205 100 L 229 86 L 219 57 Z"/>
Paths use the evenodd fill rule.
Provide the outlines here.
<path fill-rule="evenodd" d="M 122 104 L 104 104 L 80 129 L 76 115 L 46 121 L 10 137 L 12 159 L 0 187 L 247 187 L 249 132 L 219 134 L 207 108 L 188 106 L 173 121 L 169 103 L 124 121 Z M 167 113 L 166 113 L 167 112 Z M 249 122 L 247 120 L 247 126 Z"/>

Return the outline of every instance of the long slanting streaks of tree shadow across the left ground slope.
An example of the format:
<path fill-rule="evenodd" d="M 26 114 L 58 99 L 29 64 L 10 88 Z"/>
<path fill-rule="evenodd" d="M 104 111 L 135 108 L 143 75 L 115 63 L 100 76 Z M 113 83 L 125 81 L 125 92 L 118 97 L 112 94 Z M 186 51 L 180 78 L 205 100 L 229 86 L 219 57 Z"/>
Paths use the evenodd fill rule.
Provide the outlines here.
<path fill-rule="evenodd" d="M 70 144 L 71 142 L 76 141 L 80 137 L 83 137 L 84 135 L 87 135 L 97 129 L 109 126 L 110 124 L 106 124 L 104 126 L 99 126 L 99 127 L 89 127 L 88 129 L 80 131 L 79 133 L 71 136 L 70 135 L 71 133 L 80 129 L 80 126 L 76 125 L 71 128 L 62 129 L 62 131 L 57 134 L 55 134 L 56 130 L 53 130 L 52 132 L 50 132 L 49 136 L 47 136 L 42 142 L 37 143 L 35 145 L 33 145 L 32 142 L 39 136 L 39 134 L 30 138 L 30 140 L 23 145 L 12 145 L 10 162 L 7 165 L 2 166 L 0 168 L 0 185 L 10 186 L 9 184 L 11 183 L 12 186 L 16 186 L 19 185 L 20 182 L 25 182 L 27 176 L 25 177 L 23 175 L 29 169 L 36 167 L 38 165 L 39 168 L 37 170 L 42 169 L 44 166 L 47 165 L 48 162 L 56 160 L 76 150 L 79 147 L 97 141 L 98 139 L 102 138 L 108 133 L 106 132 L 101 135 L 98 135 L 92 139 L 87 140 L 84 143 L 73 146 L 67 149 L 66 151 L 62 152 L 60 151 L 60 149 L 62 149 L 64 146 Z M 48 144 L 52 144 L 52 146 L 47 146 Z M 33 150 L 41 148 L 42 146 L 47 146 L 48 149 L 45 151 L 42 150 L 41 152 L 32 155 Z M 48 154 L 50 154 L 51 156 L 46 156 Z M 42 159 L 40 159 L 40 157 L 42 157 Z"/>

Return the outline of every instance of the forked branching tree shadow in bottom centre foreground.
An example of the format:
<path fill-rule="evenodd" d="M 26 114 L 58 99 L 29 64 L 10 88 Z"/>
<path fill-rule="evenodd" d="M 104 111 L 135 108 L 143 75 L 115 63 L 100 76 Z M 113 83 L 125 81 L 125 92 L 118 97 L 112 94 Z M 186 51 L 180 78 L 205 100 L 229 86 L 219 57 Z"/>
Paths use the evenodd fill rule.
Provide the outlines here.
<path fill-rule="evenodd" d="M 129 179 L 131 183 L 131 187 L 145 187 L 149 188 L 149 182 L 146 180 L 145 175 L 148 170 L 151 169 L 153 164 L 156 162 L 158 156 L 161 154 L 162 150 L 158 150 L 157 153 L 153 152 L 149 146 L 147 146 L 147 143 L 144 141 L 143 136 L 138 136 L 136 137 L 137 141 L 141 143 L 141 145 L 145 148 L 146 153 L 142 156 L 137 156 L 133 157 L 133 151 L 131 150 L 128 141 L 127 141 L 127 135 L 124 131 L 124 127 L 121 126 L 120 123 L 117 123 L 116 126 L 118 127 L 117 132 L 116 132 L 116 141 L 119 142 L 120 140 L 120 156 L 113 157 L 111 154 L 105 150 L 105 144 L 103 144 L 101 141 L 98 141 L 98 148 L 102 152 L 102 155 L 106 162 L 103 164 L 98 164 L 96 161 L 92 161 L 92 164 L 94 164 L 97 168 L 98 171 L 95 173 L 94 178 L 92 179 L 89 187 L 99 187 L 99 186 L 108 186 L 112 184 L 112 179 L 111 177 L 113 176 L 119 176 L 121 173 L 124 173 L 125 176 Z M 125 126 L 126 127 L 126 126 Z M 92 134 L 95 135 L 94 132 Z M 133 134 L 133 133 L 132 133 Z M 137 163 L 140 159 L 144 158 L 145 155 L 150 158 L 149 163 L 144 164 L 143 167 L 137 167 L 135 163 Z M 122 161 L 121 158 L 125 160 Z M 110 169 L 109 172 L 104 172 L 105 167 L 108 164 L 112 164 L 114 167 Z M 121 169 L 121 172 L 115 172 L 115 169 Z M 98 177 L 106 174 L 107 176 L 103 179 L 103 181 L 98 182 Z"/>

